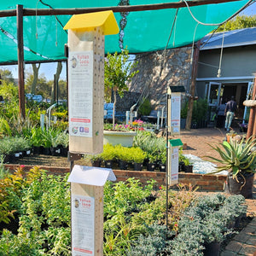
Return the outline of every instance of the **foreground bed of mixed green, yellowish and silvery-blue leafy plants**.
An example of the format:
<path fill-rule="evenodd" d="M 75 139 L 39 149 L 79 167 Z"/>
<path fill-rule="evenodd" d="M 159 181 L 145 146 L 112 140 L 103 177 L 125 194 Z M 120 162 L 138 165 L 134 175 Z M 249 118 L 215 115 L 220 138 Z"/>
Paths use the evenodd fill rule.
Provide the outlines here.
<path fill-rule="evenodd" d="M 70 255 L 67 176 L 48 175 L 36 167 L 25 176 L 20 166 L 0 183 L 0 254 Z M 197 198 L 193 189 L 185 187 L 169 192 L 166 229 L 164 188 L 156 188 L 154 181 L 143 187 L 134 178 L 107 182 L 104 255 L 203 255 L 206 244 L 223 241 L 246 211 L 241 195 Z"/>

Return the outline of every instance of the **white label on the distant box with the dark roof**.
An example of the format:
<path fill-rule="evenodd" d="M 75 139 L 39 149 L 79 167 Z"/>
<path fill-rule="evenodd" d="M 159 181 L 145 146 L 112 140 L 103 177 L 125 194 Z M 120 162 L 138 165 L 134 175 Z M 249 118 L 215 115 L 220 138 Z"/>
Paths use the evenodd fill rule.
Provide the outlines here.
<path fill-rule="evenodd" d="M 180 133 L 180 93 L 179 95 L 172 94 L 172 107 L 171 107 L 171 126 L 172 134 Z"/>

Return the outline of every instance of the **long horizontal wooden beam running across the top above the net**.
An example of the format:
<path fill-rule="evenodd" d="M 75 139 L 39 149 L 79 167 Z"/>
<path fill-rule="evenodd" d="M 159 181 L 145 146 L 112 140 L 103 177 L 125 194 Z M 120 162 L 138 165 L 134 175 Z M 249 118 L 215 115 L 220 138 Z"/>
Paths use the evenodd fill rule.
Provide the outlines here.
<path fill-rule="evenodd" d="M 188 1 L 189 7 L 206 5 L 206 4 L 218 4 L 218 3 L 230 3 L 239 0 L 192 0 Z M 154 4 L 142 4 L 142 5 L 124 5 L 124 6 L 109 6 L 109 7 L 95 7 L 95 8 L 73 8 L 73 9 L 23 9 L 24 16 L 35 15 L 79 15 L 86 13 L 94 13 L 100 11 L 112 10 L 113 13 L 120 12 L 135 12 L 145 10 L 157 10 L 157 9 L 179 9 L 187 7 L 184 2 L 175 3 L 154 3 Z M 15 16 L 16 10 L 3 10 L 0 11 L 0 17 Z"/>

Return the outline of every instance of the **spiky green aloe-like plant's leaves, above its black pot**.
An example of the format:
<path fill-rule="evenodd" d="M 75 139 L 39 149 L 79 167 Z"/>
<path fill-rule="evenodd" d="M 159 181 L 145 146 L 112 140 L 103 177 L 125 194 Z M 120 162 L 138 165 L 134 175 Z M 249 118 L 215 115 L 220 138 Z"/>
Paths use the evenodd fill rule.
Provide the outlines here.
<path fill-rule="evenodd" d="M 210 145 L 211 146 L 211 145 Z M 236 178 L 240 173 L 243 176 L 245 173 L 255 173 L 256 168 L 256 139 L 249 138 L 247 141 L 245 138 L 241 139 L 241 142 L 230 139 L 230 143 L 224 142 L 220 144 L 220 147 L 211 146 L 216 150 L 220 156 L 220 159 L 212 156 L 207 156 L 208 159 L 216 163 L 220 163 L 222 166 L 217 167 L 217 173 L 221 171 L 231 172 L 233 178 Z"/>

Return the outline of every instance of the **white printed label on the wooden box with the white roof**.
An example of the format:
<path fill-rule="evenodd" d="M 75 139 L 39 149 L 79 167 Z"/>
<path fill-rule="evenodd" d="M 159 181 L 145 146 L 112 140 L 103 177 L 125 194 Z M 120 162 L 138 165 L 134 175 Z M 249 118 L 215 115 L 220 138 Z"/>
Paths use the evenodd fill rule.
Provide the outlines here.
<path fill-rule="evenodd" d="M 72 255 L 94 255 L 94 197 L 72 195 Z"/>

